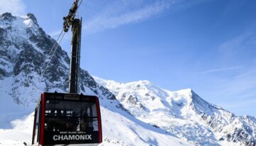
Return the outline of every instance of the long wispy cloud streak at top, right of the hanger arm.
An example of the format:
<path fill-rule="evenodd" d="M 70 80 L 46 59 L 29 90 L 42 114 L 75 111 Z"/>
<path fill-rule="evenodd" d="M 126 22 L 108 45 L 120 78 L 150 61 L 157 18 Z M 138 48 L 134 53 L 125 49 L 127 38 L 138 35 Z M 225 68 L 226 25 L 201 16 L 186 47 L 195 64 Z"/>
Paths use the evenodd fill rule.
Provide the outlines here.
<path fill-rule="evenodd" d="M 95 33 L 101 30 L 117 28 L 131 23 L 164 16 L 165 12 L 178 11 L 192 6 L 201 1 L 187 0 L 158 0 L 153 3 L 148 1 L 122 1 L 107 5 L 101 13 L 87 21 L 84 30 L 87 33 Z"/>

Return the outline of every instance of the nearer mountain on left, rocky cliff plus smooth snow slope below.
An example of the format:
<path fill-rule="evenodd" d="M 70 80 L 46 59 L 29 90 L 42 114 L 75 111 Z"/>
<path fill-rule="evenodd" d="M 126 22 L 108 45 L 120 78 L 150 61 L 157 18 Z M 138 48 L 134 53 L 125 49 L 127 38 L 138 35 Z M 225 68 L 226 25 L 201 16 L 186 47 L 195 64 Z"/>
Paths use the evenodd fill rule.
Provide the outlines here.
<path fill-rule="evenodd" d="M 67 92 L 69 58 L 59 45 L 53 54 L 54 45 L 55 40 L 38 26 L 33 14 L 0 15 L 0 145 L 31 144 L 32 112 L 38 96 L 42 91 Z M 79 87 L 82 94 L 100 98 L 102 145 L 188 145 L 166 130 L 129 115 L 114 94 L 97 84 L 83 69 Z M 14 120 L 28 113 L 32 114 Z M 9 125 L 11 120 L 14 120 L 13 128 Z"/>

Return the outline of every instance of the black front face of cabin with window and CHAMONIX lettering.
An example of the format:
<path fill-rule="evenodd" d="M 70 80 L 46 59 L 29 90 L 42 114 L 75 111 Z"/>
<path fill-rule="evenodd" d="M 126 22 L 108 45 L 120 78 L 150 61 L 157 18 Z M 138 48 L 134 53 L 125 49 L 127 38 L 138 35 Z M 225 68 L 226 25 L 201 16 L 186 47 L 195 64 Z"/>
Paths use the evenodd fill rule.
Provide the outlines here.
<path fill-rule="evenodd" d="M 92 143 L 98 140 L 95 102 L 46 100 L 45 144 Z"/>

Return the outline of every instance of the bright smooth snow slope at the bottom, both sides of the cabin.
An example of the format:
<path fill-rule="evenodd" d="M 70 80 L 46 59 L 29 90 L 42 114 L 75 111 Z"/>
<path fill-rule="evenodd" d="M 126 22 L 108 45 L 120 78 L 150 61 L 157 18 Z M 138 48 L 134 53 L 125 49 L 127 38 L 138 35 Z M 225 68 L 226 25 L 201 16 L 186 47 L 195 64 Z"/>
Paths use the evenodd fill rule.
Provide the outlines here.
<path fill-rule="evenodd" d="M 117 101 L 101 99 L 102 145 L 191 145 L 166 134 L 165 130 L 143 123 L 122 109 Z M 0 145 L 31 145 L 33 113 L 23 120 L 14 120 L 14 129 L 0 129 Z"/>

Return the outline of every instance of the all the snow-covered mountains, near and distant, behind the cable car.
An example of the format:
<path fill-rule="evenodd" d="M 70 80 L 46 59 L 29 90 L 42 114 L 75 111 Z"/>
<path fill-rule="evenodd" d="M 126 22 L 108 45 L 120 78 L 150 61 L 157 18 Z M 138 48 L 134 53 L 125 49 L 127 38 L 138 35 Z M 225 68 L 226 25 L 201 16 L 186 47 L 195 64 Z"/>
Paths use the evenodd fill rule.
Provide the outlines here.
<path fill-rule="evenodd" d="M 33 14 L 0 15 L 0 145 L 29 145 L 38 96 L 68 91 L 70 60 L 58 44 L 53 54 L 55 43 Z M 82 94 L 100 97 L 102 145 L 256 145 L 255 117 L 235 116 L 191 89 L 122 84 L 84 69 L 79 87 Z M 13 128 L 4 130 L 10 122 Z"/>

